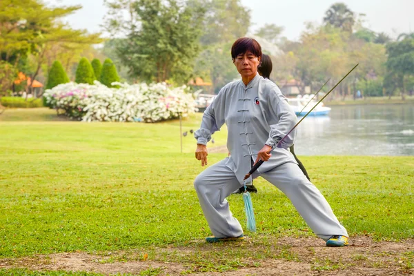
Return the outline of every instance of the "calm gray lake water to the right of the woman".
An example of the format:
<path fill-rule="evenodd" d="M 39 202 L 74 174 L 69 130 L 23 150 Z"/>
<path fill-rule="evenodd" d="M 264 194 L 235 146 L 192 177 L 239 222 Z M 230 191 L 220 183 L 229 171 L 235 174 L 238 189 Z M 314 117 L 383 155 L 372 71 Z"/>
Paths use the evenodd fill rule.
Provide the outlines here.
<path fill-rule="evenodd" d="M 414 155 L 414 104 L 331 108 L 297 127 L 297 155 Z"/>

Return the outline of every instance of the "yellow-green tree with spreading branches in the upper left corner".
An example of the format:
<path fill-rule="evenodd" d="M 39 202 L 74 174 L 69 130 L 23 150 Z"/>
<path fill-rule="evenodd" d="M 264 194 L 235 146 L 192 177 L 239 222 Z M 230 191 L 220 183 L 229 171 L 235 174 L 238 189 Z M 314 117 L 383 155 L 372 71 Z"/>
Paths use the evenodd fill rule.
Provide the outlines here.
<path fill-rule="evenodd" d="M 30 62 L 29 66 L 24 64 L 24 68 L 30 68 L 24 73 L 30 79 L 36 79 L 42 68 L 50 67 L 52 61 L 58 59 L 59 53 L 71 55 L 72 49 L 100 43 L 99 34 L 72 30 L 59 21 L 80 8 L 50 8 L 38 0 L 0 1 L 1 59 L 15 67 L 19 67 L 23 60 Z M 50 63 L 45 66 L 48 61 Z M 30 92 L 31 86 L 28 90 Z"/>

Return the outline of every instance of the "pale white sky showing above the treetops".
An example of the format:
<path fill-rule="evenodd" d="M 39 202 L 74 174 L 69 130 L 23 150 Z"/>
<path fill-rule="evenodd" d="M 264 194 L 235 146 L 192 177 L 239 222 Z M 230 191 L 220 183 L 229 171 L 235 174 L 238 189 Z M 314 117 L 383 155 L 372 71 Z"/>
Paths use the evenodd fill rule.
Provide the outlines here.
<path fill-rule="evenodd" d="M 266 23 L 284 26 L 283 36 L 297 40 L 306 22 L 322 23 L 324 13 L 340 0 L 241 0 L 250 9 L 251 32 Z M 102 32 L 103 17 L 108 11 L 103 0 L 46 0 L 50 6 L 81 5 L 83 8 L 64 21 L 75 29 Z M 353 12 L 366 14 L 365 26 L 375 32 L 397 37 L 414 32 L 414 0 L 342 0 Z"/>

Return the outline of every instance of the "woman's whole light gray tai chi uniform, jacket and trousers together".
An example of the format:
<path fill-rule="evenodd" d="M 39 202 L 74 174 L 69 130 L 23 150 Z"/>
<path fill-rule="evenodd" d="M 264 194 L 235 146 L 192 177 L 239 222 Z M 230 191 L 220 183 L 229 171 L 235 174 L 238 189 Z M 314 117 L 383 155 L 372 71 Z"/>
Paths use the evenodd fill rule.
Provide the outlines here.
<path fill-rule="evenodd" d="M 238 237 L 243 229 L 230 212 L 226 197 L 243 186 L 257 152 L 265 144 L 275 146 L 295 126 L 297 117 L 276 84 L 257 74 L 247 86 L 240 80 L 221 89 L 195 132 L 197 144 L 206 145 L 224 123 L 230 157 L 201 172 L 194 186 L 213 235 Z M 289 152 L 294 140 L 295 130 L 252 177 L 262 176 L 282 190 L 318 237 L 348 236 L 324 196 L 306 179 Z"/>

